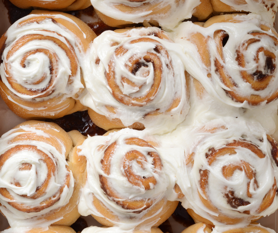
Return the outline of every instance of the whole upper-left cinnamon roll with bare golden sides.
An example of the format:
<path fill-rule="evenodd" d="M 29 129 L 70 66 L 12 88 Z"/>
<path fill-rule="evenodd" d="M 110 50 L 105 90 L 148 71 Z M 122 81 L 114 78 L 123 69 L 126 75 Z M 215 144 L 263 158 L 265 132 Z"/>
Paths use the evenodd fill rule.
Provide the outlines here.
<path fill-rule="evenodd" d="M 1 37 L 0 94 L 24 119 L 59 118 L 86 109 L 78 98 L 95 34 L 76 17 L 33 11 Z"/>

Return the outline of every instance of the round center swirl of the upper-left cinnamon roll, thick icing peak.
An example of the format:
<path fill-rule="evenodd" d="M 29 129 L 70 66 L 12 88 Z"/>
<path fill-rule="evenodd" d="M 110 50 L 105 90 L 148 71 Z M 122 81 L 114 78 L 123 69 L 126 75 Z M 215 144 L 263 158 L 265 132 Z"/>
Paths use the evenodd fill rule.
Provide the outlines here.
<path fill-rule="evenodd" d="M 6 56 L 6 76 L 11 88 L 29 98 L 43 98 L 55 91 L 57 76 L 65 82 L 78 72 L 78 60 L 70 42 L 62 35 L 23 35 Z"/>

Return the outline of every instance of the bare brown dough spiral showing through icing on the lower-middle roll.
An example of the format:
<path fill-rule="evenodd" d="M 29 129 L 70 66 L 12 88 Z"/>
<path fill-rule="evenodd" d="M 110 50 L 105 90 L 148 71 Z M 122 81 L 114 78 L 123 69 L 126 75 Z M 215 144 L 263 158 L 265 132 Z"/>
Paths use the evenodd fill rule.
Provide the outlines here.
<path fill-rule="evenodd" d="M 154 148 L 151 144 L 140 138 L 130 137 L 125 139 L 123 143 L 126 145 L 133 145 L 135 146 L 135 148 L 136 146 L 140 146 L 142 147 L 142 149 L 143 147 L 150 148 L 150 151 L 145 152 L 144 154 L 139 151 L 140 149 L 130 150 L 125 155 L 123 155 L 121 160 L 123 162 L 122 170 L 124 171 L 124 174 L 131 185 L 143 188 L 146 191 L 152 189 L 157 183 L 155 175 L 161 172 L 163 167 L 159 154 L 153 150 Z M 113 156 L 116 156 L 116 149 L 123 146 L 121 144 L 122 143 L 118 145 L 117 142 L 114 142 L 105 149 L 104 157 L 101 160 L 101 165 L 104 174 L 106 174 L 107 176 L 111 174 L 111 160 L 114 159 Z M 136 161 L 136 164 L 133 164 L 133 161 Z M 150 162 L 153 166 L 152 170 L 154 174 L 152 176 L 142 176 L 138 174 L 138 171 L 134 170 L 135 166 L 140 166 L 143 170 L 149 170 L 146 165 Z M 111 187 L 111 181 L 109 182 L 108 178 L 104 177 L 103 175 L 100 175 L 99 178 L 101 182 L 101 188 L 104 190 L 106 195 L 108 195 L 118 205 L 122 206 L 122 208 L 134 210 L 138 210 L 140 208 L 139 211 L 136 211 L 140 213 L 153 204 L 153 200 L 145 199 L 126 199 L 124 201 L 118 201 L 123 199 L 123 197 L 121 197 L 119 193 L 113 190 L 113 188 Z"/>

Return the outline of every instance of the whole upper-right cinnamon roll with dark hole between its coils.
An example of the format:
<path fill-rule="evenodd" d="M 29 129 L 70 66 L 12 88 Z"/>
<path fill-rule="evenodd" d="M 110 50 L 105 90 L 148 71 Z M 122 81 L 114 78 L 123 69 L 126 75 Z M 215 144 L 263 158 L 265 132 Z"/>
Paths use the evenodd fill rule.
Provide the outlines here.
<path fill-rule="evenodd" d="M 252 108 L 278 97 L 278 35 L 258 18 L 219 15 L 203 27 L 184 22 L 176 31 L 175 42 L 189 58 L 187 71 L 211 96 L 232 106 Z"/>

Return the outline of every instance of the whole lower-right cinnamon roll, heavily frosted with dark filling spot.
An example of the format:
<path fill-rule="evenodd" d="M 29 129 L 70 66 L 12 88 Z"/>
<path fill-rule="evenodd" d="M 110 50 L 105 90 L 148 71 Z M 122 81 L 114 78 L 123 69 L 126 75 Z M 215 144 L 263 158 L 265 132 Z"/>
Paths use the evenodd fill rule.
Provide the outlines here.
<path fill-rule="evenodd" d="M 192 130 L 177 185 L 195 222 L 245 226 L 277 210 L 277 143 L 259 124 L 220 123 Z"/>

